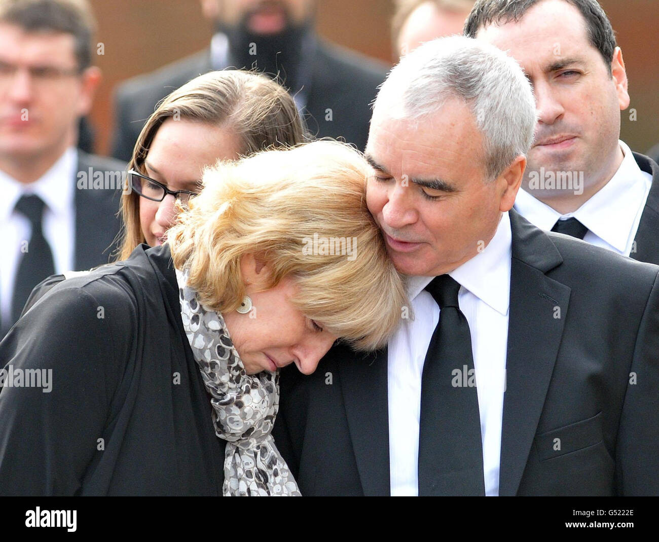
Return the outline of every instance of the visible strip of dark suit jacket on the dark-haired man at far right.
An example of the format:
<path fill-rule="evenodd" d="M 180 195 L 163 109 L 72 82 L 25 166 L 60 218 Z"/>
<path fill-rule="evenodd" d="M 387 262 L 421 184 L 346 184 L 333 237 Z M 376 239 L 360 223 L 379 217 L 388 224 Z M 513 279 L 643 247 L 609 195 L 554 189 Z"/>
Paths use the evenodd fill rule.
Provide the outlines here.
<path fill-rule="evenodd" d="M 630 256 L 639 262 L 659 264 L 659 166 L 654 160 L 637 152 L 634 158 L 641 171 L 652 175 L 652 187 L 636 232 L 636 251 L 632 249 Z"/>

